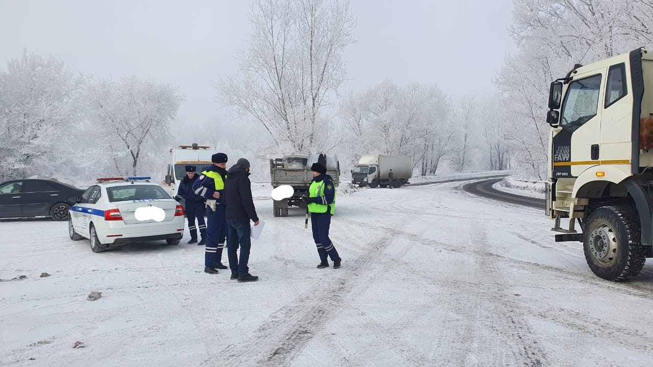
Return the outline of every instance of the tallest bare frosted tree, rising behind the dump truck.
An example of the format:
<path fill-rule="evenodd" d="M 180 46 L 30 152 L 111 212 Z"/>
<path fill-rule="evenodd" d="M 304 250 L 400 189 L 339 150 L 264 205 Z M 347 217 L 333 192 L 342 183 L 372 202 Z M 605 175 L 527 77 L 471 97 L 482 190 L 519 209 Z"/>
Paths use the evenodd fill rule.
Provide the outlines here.
<path fill-rule="evenodd" d="M 356 21 L 346 0 L 257 0 L 240 74 L 217 82 L 219 103 L 260 123 L 282 152 L 313 153 L 333 131 L 327 107 L 346 78 Z"/>

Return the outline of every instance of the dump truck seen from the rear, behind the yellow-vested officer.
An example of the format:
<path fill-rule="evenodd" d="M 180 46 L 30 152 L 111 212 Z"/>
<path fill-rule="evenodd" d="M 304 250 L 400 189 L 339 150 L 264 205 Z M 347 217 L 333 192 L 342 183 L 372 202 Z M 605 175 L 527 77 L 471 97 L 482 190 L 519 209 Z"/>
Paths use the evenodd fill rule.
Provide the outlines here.
<path fill-rule="evenodd" d="M 316 162 L 321 162 L 327 167 L 327 174 L 333 178 L 336 187 L 338 187 L 340 183 L 340 163 L 335 155 L 295 154 L 270 159 L 272 187 L 290 185 L 295 190 L 292 197 L 283 200 L 273 199 L 273 214 L 275 217 L 287 217 L 290 206 L 306 208 L 306 204 L 302 201 L 302 195 L 308 196 L 308 187 L 310 187 L 313 180 L 311 165 Z"/>

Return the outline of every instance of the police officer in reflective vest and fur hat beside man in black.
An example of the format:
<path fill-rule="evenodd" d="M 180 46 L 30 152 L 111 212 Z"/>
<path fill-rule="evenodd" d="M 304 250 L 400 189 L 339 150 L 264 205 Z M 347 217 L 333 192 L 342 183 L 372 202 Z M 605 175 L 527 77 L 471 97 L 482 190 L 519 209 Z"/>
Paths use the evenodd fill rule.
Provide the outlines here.
<path fill-rule="evenodd" d="M 217 274 L 223 265 L 222 250 L 227 240 L 227 217 L 225 216 L 225 180 L 227 180 L 227 155 L 215 153 L 213 165 L 204 167 L 193 183 L 193 190 L 206 200 L 206 247 L 204 247 L 204 272 Z M 217 269 L 216 269 L 217 268 Z"/>

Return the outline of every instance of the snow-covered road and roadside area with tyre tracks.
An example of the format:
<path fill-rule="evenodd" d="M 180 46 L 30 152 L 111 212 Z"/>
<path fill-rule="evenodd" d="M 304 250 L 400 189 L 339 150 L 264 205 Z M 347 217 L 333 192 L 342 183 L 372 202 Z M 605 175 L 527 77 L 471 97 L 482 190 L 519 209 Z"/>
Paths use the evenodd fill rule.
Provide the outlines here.
<path fill-rule="evenodd" d="M 339 194 L 338 270 L 315 268 L 304 212 L 272 217 L 256 185 L 254 283 L 202 272 L 187 236 L 92 253 L 67 223 L 0 221 L 0 365 L 653 364 L 653 262 L 603 281 L 541 210 L 463 184 Z"/>

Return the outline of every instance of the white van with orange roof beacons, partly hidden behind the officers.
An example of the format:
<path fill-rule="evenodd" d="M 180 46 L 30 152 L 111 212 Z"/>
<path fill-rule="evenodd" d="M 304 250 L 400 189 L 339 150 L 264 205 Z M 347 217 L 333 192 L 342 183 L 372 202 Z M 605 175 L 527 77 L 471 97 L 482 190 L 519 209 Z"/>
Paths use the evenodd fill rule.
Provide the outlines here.
<path fill-rule="evenodd" d="M 202 172 L 202 168 L 211 165 L 211 156 L 214 154 L 208 146 L 180 145 L 179 148 L 170 149 L 168 154 L 167 166 L 165 170 L 164 182 L 161 183 L 165 191 L 171 197 L 177 195 L 179 183 L 186 175 L 186 165 L 197 167 L 197 174 Z"/>

